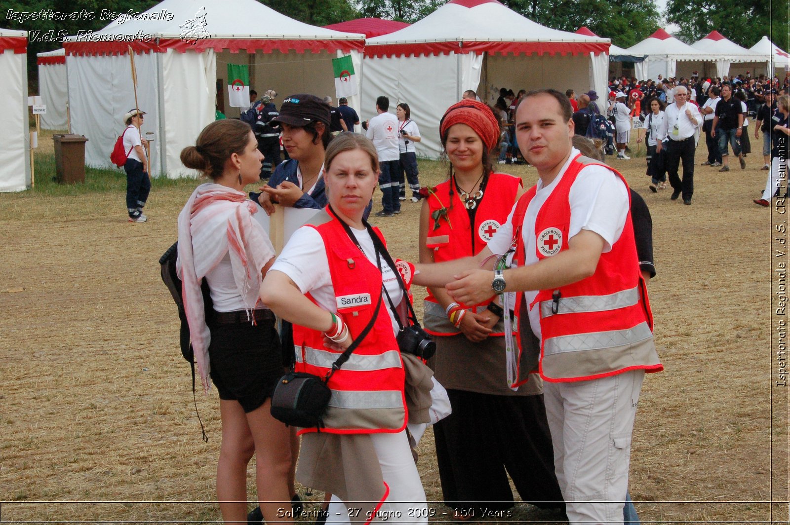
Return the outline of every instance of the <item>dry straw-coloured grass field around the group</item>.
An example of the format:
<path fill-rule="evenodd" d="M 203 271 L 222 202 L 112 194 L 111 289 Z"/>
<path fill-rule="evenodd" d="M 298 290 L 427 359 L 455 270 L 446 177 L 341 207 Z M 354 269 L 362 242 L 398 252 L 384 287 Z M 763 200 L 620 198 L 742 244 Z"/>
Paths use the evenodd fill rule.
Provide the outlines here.
<path fill-rule="evenodd" d="M 772 214 L 787 221 L 751 202 L 766 180 L 758 154 L 746 171 L 698 165 L 691 206 L 647 191 L 643 157 L 611 161 L 649 205 L 658 271 L 649 291 L 666 370 L 645 380 L 630 470 L 643 523 L 788 523 L 788 387 L 774 385 L 771 343 L 773 269 L 787 257 L 773 252 Z M 530 167 L 506 168 L 536 181 Z M 445 170 L 421 163 L 423 184 Z M 157 264 L 196 184 L 155 185 L 143 224 L 126 221 L 120 175 L 106 190 L 0 194 L 3 523 L 220 519 L 216 390 L 198 392 L 206 444 Z M 414 260 L 419 204 L 403 210 L 375 223 Z M 441 501 L 432 441 L 429 430 L 419 471 Z M 253 500 L 251 469 L 248 486 Z M 432 520 L 448 519 L 434 508 Z M 555 519 L 519 504 L 500 521 Z"/>

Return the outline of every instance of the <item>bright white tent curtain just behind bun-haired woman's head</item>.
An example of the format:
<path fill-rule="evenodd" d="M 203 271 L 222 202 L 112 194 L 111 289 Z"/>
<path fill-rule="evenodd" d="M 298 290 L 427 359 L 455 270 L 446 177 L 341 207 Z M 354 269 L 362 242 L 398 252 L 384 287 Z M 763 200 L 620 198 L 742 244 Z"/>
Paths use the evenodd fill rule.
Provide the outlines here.
<path fill-rule="evenodd" d="M 160 61 L 160 72 L 167 72 L 160 76 L 163 115 L 158 129 L 147 129 L 148 126 L 144 129 L 156 131 L 157 151 L 161 151 L 164 133 L 164 157 L 153 159 L 158 167 L 156 172 L 167 174 L 167 178 L 192 176 L 195 171 L 181 163 L 181 150 L 194 145 L 201 130 L 216 117 L 213 103 L 216 95 L 214 50 L 179 53 L 168 49 L 164 53 L 156 53 L 156 59 Z M 139 68 L 137 71 L 139 75 Z"/>

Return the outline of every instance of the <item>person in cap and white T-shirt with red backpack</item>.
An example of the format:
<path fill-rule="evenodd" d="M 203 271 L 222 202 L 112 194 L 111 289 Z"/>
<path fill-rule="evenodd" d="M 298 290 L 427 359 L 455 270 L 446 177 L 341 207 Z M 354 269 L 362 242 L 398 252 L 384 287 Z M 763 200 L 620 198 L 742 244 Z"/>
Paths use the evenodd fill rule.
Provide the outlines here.
<path fill-rule="evenodd" d="M 151 191 L 148 157 L 145 156 L 145 145 L 148 144 L 141 136 L 140 126 L 143 125 L 145 111 L 136 107 L 123 115 L 126 129 L 123 130 L 123 151 L 127 152 L 126 163 L 126 208 L 132 223 L 145 223 L 148 219 L 143 214 L 145 201 Z"/>

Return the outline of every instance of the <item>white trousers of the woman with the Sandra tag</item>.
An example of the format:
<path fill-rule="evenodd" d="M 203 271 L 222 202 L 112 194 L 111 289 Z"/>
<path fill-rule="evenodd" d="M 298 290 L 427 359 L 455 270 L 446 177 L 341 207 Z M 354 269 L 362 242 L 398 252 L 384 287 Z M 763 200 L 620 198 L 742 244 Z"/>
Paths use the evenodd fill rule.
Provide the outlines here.
<path fill-rule="evenodd" d="M 423 482 L 419 479 L 406 431 L 397 434 L 371 434 L 371 439 L 378 456 L 378 464 L 382 467 L 384 482 L 389 486 L 389 496 L 376 512 L 373 521 L 427 523 L 428 504 L 425 501 Z M 343 501 L 333 495 L 329 502 L 329 518 L 326 523 L 350 523 L 348 512 Z"/>

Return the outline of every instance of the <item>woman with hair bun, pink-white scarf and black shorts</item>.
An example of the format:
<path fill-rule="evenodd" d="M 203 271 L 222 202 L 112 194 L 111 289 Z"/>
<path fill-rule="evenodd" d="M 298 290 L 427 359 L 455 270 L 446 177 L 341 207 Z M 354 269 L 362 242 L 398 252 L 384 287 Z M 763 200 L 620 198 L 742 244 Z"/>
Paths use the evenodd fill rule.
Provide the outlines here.
<path fill-rule="evenodd" d="M 226 523 L 246 521 L 250 443 L 263 516 L 269 523 L 290 521 L 278 514 L 290 500 L 289 432 L 269 413 L 282 375 L 280 344 L 274 314 L 258 298 L 274 249 L 253 218 L 257 205 L 243 192 L 258 182 L 261 160 L 250 126 L 233 119 L 212 122 L 181 152 L 184 166 L 211 179 L 194 190 L 179 214 L 177 268 L 201 383 L 208 392 L 213 381 L 220 394 L 216 494 Z M 209 313 L 204 279 L 213 303 Z"/>

